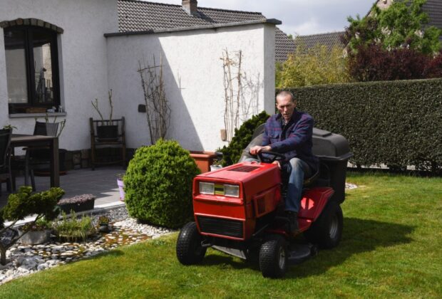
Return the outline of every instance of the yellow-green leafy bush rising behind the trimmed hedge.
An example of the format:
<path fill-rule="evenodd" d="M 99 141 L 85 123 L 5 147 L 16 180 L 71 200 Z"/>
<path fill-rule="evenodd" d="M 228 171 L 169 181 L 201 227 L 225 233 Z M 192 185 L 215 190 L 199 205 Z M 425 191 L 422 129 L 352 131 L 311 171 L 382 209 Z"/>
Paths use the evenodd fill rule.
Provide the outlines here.
<path fill-rule="evenodd" d="M 287 61 L 277 65 L 277 88 L 306 85 L 346 83 L 350 78 L 346 58 L 339 46 L 329 47 L 317 44 L 308 48 L 297 41 L 294 53 Z"/>

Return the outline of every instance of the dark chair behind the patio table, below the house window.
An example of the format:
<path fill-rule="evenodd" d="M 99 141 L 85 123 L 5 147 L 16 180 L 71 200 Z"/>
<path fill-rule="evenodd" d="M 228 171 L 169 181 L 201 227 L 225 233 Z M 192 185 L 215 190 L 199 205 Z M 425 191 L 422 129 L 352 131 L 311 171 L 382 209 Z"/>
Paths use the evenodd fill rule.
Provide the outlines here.
<path fill-rule="evenodd" d="M 34 127 L 34 135 L 56 136 L 59 122 L 37 122 Z M 48 147 L 26 147 L 26 154 L 23 158 L 14 159 L 14 169 L 24 169 L 24 184 L 28 186 L 31 178 L 32 190 L 36 191 L 34 169 L 41 165 L 51 164 L 51 153 Z M 15 190 L 15 175 L 12 180 Z"/>

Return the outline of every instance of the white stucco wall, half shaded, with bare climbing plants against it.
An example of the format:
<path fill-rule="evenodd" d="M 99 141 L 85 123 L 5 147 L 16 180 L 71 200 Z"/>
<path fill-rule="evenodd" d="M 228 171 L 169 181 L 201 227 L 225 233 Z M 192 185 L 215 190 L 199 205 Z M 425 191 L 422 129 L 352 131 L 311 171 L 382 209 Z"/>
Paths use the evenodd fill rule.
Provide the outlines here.
<path fill-rule="evenodd" d="M 108 37 L 108 79 L 115 100 L 114 114 L 126 118 L 128 147 L 149 145 L 138 62 L 153 65 L 163 57 L 166 96 L 172 110 L 168 138 L 188 150 L 215 150 L 226 145 L 222 57 L 242 51 L 244 99 L 250 115 L 274 111 L 274 26 L 259 23 L 202 29 Z M 243 117 L 245 118 L 245 117 Z"/>

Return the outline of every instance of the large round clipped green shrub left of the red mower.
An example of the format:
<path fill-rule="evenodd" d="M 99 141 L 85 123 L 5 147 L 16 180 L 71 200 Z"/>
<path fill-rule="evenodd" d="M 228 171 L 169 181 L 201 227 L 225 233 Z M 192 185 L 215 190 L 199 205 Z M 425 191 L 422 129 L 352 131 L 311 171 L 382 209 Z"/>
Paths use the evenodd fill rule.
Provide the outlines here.
<path fill-rule="evenodd" d="M 123 179 L 130 216 L 171 229 L 183 226 L 192 219 L 192 180 L 199 173 L 195 160 L 176 141 L 140 147 Z"/>

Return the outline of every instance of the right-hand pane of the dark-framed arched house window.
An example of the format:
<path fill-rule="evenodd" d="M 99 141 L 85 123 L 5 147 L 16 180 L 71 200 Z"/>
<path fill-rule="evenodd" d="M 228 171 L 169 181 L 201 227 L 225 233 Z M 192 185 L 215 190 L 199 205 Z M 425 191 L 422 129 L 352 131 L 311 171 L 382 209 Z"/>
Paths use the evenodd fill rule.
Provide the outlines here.
<path fill-rule="evenodd" d="M 34 76 L 36 103 L 53 103 L 53 80 L 51 59 L 51 35 L 34 31 L 32 34 L 34 51 Z"/>

